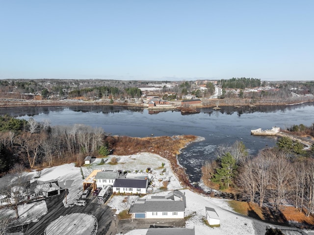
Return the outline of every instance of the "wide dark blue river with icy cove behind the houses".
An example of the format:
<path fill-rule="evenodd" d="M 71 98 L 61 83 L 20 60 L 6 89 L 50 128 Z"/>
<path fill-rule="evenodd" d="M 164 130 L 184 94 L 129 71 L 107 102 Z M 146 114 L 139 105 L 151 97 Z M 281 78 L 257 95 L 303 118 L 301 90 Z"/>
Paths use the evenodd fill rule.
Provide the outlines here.
<path fill-rule="evenodd" d="M 200 113 L 182 115 L 179 111 L 165 111 L 149 114 L 147 109 L 118 106 L 71 106 L 71 107 L 15 107 L 0 108 L 0 114 L 36 121 L 49 119 L 52 126 L 85 124 L 102 127 L 106 133 L 134 137 L 193 134 L 204 141 L 193 143 L 178 156 L 186 168 L 191 182 L 199 182 L 204 160 L 214 157 L 214 150 L 221 144 L 242 141 L 249 153 L 254 155 L 260 149 L 274 146 L 276 137 L 252 136 L 257 128 L 271 129 L 273 126 L 285 129 L 291 125 L 314 123 L 314 104 L 280 106 L 222 107 L 214 111 L 202 108 Z"/>

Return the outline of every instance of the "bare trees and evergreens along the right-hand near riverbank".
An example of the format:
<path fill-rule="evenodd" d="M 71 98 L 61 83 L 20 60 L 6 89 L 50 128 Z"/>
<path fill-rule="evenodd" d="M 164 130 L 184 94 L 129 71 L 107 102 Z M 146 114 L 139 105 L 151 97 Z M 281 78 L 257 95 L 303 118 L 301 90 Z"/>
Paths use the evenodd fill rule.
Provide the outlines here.
<path fill-rule="evenodd" d="M 314 137 L 314 125 L 293 125 L 287 131 Z M 314 213 L 314 145 L 281 137 L 276 146 L 250 156 L 242 142 L 219 146 L 216 159 L 203 165 L 203 182 L 210 188 L 227 190 L 260 208 L 280 215 L 293 205 L 307 217 Z"/>

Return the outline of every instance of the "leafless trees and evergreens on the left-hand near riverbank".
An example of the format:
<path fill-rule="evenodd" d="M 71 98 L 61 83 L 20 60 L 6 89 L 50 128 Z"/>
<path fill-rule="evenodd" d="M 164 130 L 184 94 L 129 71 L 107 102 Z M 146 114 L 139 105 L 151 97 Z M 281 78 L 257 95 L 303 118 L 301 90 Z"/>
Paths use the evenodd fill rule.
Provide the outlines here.
<path fill-rule="evenodd" d="M 99 155 L 104 145 L 104 130 L 85 125 L 51 127 L 8 115 L 0 117 L 0 171 L 19 163 L 26 168 L 46 167 L 68 162 L 82 164 L 86 154 Z"/>

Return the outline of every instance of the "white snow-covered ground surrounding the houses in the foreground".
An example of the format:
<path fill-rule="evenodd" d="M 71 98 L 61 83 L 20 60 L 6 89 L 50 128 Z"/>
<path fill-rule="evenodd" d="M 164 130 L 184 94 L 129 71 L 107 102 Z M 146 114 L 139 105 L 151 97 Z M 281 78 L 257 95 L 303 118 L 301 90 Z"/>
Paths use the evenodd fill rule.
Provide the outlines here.
<path fill-rule="evenodd" d="M 111 165 L 111 157 L 116 157 L 118 164 Z M 163 181 L 167 181 L 167 190 L 180 189 L 185 192 L 186 196 L 186 210 L 185 215 L 193 215 L 186 221 L 187 228 L 195 227 L 195 234 L 197 235 L 226 235 L 226 234 L 238 234 L 238 235 L 252 235 L 254 234 L 253 223 L 248 217 L 237 216 L 232 209 L 229 208 L 227 201 L 220 199 L 213 199 L 205 196 L 198 195 L 190 190 L 182 189 L 182 185 L 171 171 L 169 161 L 150 153 L 141 153 L 131 156 L 109 156 L 105 158 L 105 164 L 99 165 L 101 159 L 97 158 L 92 164 L 87 167 L 82 167 L 82 171 L 79 167 L 75 167 L 74 163 L 64 164 L 61 166 L 51 167 L 43 169 L 41 172 L 41 181 L 49 181 L 57 179 L 60 181 L 67 181 L 67 188 L 69 194 L 67 196 L 67 204 L 73 204 L 82 193 L 83 176 L 86 177 L 94 169 L 102 170 L 130 170 L 130 171 L 143 171 L 150 167 L 152 169 L 152 176 L 154 176 L 154 195 L 165 195 L 167 191 L 161 191 L 159 188 L 163 186 Z M 164 166 L 161 167 L 161 164 Z M 166 169 L 165 172 L 163 169 Z M 31 172 L 32 176 L 36 173 Z M 157 192 L 158 191 L 158 192 Z M 146 195 L 145 197 L 151 197 L 152 194 Z M 131 198 L 132 197 L 132 198 Z M 136 196 L 131 196 L 128 202 L 123 202 L 125 196 L 113 196 L 107 203 L 112 209 L 117 209 L 116 213 L 121 210 L 127 209 L 130 205 L 130 201 L 136 200 Z M 28 208 L 29 207 L 29 208 Z M 206 218 L 205 207 L 214 208 L 220 218 L 220 227 L 210 228 L 203 222 L 203 218 Z M 0 211 L 0 213 L 11 213 L 14 217 L 13 210 Z M 19 207 L 19 212 L 24 221 L 36 221 L 39 216 L 47 213 L 47 206 L 45 201 L 38 203 L 28 204 Z M 81 221 L 81 226 L 85 222 Z M 69 225 L 71 227 L 71 225 Z M 87 224 L 86 224 L 87 227 Z M 140 235 L 145 234 L 147 230 L 134 230 L 129 232 L 127 235 Z"/>

